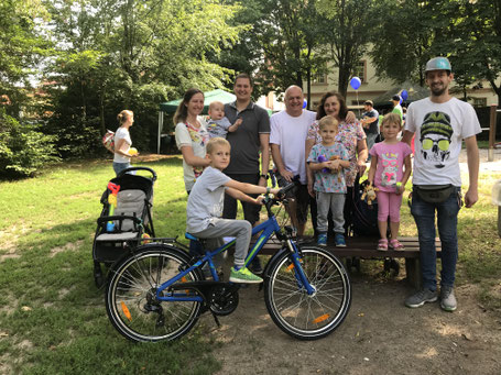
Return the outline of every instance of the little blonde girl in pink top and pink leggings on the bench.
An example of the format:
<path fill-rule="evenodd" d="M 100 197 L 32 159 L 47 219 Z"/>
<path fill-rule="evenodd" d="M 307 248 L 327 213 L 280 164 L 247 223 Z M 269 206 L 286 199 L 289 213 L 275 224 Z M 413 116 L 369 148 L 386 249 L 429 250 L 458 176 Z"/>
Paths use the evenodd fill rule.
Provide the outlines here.
<path fill-rule="evenodd" d="M 394 250 L 403 250 L 404 246 L 397 240 L 400 227 L 400 206 L 402 206 L 402 192 L 411 176 L 411 147 L 397 140 L 402 131 L 402 120 L 397 113 L 388 113 L 381 123 L 381 133 L 384 141 L 374 144 L 370 150 L 371 167 L 369 181 L 379 191 L 378 195 L 378 227 L 381 239 L 378 250 L 386 251 L 388 246 Z M 388 242 L 388 218 L 390 218 L 391 240 Z"/>

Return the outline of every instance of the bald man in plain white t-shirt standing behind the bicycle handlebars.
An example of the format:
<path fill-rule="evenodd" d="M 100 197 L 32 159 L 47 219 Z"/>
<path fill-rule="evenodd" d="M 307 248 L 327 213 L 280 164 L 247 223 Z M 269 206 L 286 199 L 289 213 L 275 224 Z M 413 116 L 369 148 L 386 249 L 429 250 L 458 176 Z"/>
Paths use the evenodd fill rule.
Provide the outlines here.
<path fill-rule="evenodd" d="M 291 86 L 285 90 L 285 110 L 270 119 L 270 144 L 273 162 L 279 172 L 280 186 L 299 176 L 301 186 L 294 191 L 294 202 L 288 206 L 292 224 L 303 235 L 308 217 L 309 195 L 306 180 L 305 142 L 308 126 L 315 122 L 316 113 L 304 110 L 303 90 Z"/>

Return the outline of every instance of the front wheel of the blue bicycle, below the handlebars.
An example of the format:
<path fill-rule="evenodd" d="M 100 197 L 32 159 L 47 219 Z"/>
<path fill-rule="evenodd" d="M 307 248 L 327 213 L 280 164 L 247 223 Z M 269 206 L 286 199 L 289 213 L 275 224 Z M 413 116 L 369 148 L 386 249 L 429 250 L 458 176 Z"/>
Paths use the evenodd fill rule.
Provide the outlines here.
<path fill-rule="evenodd" d="M 301 340 L 316 340 L 345 320 L 351 304 L 351 285 L 342 263 L 324 249 L 302 247 L 301 266 L 314 293 L 308 295 L 291 254 L 271 265 L 264 280 L 266 308 L 276 326 Z"/>

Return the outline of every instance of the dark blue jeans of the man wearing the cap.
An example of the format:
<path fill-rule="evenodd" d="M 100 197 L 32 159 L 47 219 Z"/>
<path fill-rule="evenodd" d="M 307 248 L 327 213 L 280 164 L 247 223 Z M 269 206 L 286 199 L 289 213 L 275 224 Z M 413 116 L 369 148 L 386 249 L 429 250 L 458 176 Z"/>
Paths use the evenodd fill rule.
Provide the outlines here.
<path fill-rule="evenodd" d="M 435 211 L 437 213 L 438 235 L 442 242 L 442 282 L 440 285 L 454 286 L 456 263 L 458 258 L 457 217 L 461 207 L 460 187 L 442 203 L 425 202 L 414 192 L 412 195 L 411 213 L 417 225 L 420 239 L 420 260 L 423 287 L 437 289 L 436 268 L 437 253 L 435 249 Z"/>

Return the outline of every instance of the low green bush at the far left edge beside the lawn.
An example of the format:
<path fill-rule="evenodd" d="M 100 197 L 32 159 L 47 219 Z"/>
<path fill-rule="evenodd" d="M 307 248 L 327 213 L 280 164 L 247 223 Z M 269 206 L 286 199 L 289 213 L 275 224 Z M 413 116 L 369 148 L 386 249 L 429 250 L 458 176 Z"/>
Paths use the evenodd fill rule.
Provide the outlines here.
<path fill-rule="evenodd" d="M 56 155 L 53 136 L 0 112 L 0 178 L 32 177 Z"/>

